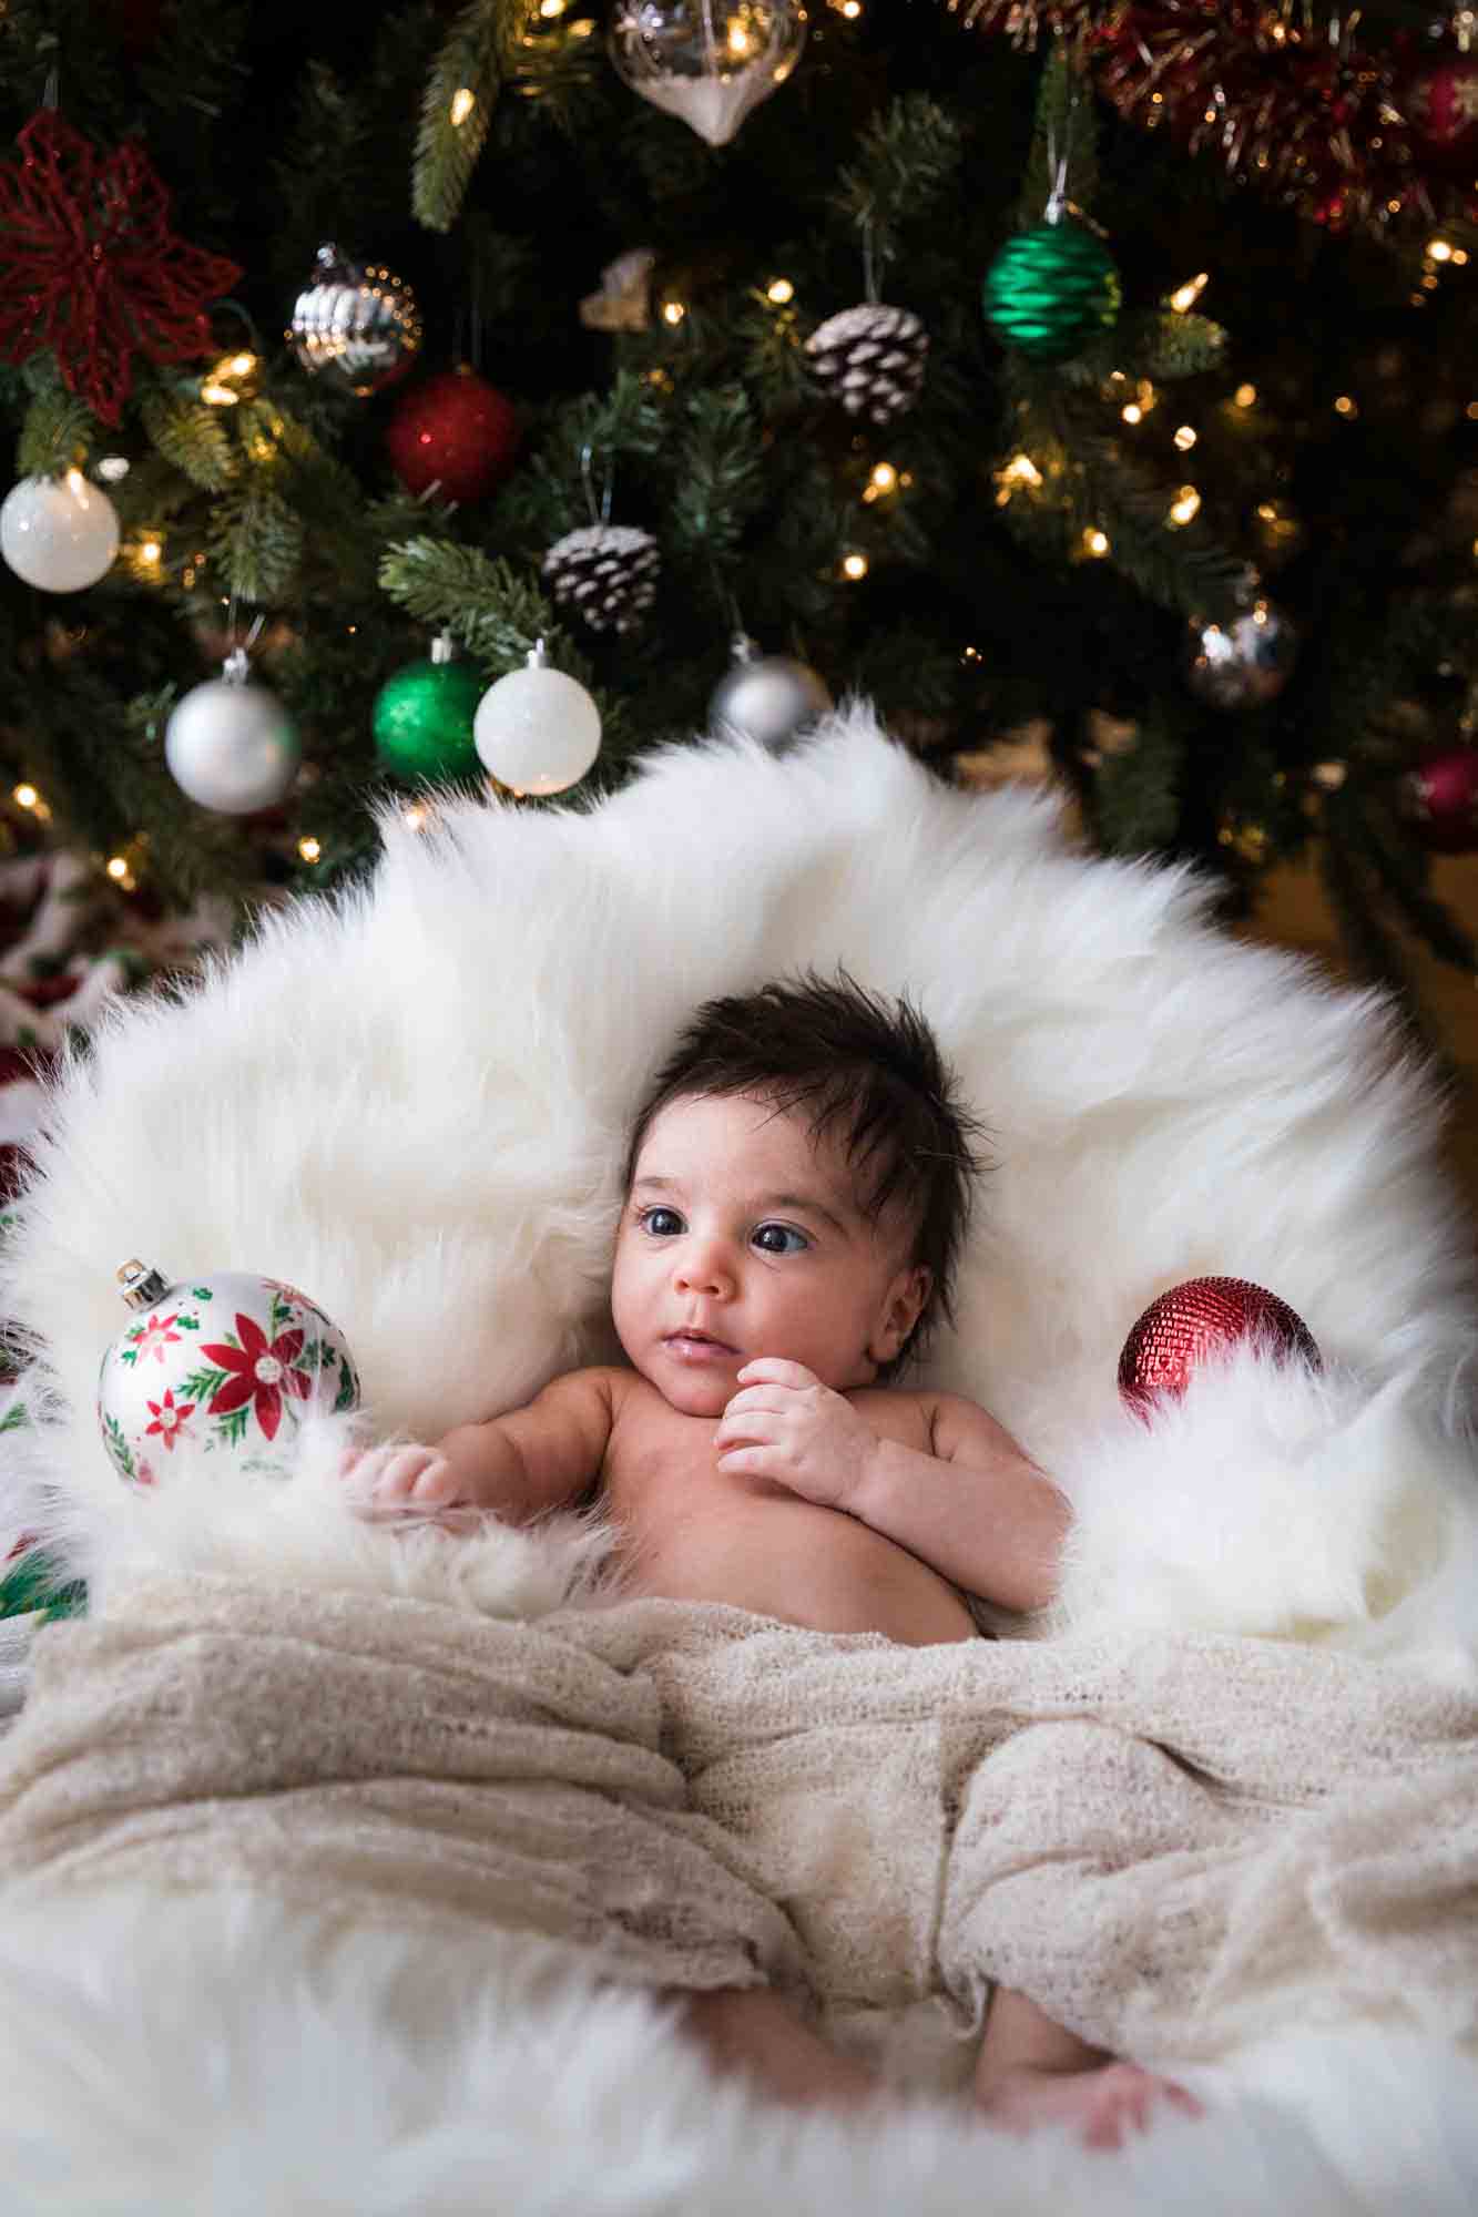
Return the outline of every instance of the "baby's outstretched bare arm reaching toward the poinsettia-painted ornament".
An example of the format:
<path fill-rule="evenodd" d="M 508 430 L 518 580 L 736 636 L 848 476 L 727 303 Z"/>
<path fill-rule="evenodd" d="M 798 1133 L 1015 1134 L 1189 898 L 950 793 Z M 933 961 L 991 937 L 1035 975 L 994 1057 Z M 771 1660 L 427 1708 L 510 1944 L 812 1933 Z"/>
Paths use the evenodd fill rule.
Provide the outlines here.
<path fill-rule="evenodd" d="M 431 1448 L 379 1448 L 351 1465 L 368 1516 L 464 1521 L 495 1510 L 530 1523 L 599 1477 L 619 1370 L 570 1370 L 506 1417 L 459 1423 Z"/>

